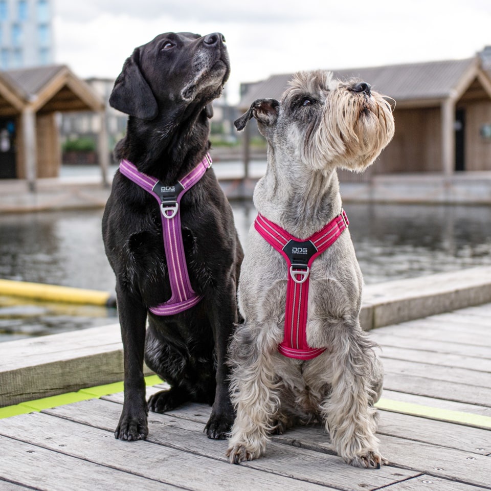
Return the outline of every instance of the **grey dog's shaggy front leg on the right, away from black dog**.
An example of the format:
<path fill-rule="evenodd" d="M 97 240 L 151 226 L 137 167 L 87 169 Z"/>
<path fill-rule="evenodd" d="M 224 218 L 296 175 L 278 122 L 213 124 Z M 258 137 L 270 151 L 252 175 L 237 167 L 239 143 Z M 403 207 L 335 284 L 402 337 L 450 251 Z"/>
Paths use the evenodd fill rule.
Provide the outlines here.
<path fill-rule="evenodd" d="M 322 412 L 333 448 L 340 457 L 356 467 L 380 468 L 387 461 L 378 451 L 372 407 L 378 396 L 372 387 L 380 384 L 367 376 L 377 372 L 377 361 L 363 334 L 352 341 L 347 351 L 334 354 L 332 388 Z"/>

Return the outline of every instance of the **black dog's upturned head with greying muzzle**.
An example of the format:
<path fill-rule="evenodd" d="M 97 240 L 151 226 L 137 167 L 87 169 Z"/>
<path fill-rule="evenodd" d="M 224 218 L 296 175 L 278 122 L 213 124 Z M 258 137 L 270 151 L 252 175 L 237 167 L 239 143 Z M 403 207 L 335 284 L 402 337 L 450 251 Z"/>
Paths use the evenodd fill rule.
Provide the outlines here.
<path fill-rule="evenodd" d="M 230 74 L 225 38 L 188 32 L 160 34 L 133 51 L 115 81 L 109 104 L 152 121 L 159 114 L 187 113 L 221 95 Z"/>

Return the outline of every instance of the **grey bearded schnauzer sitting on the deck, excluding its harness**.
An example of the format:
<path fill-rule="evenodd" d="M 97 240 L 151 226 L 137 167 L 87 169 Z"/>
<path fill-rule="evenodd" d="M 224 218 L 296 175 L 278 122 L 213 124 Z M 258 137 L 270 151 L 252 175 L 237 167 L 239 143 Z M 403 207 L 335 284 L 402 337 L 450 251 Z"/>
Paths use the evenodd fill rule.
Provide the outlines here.
<path fill-rule="evenodd" d="M 254 205 L 295 237 L 312 236 L 342 213 L 336 168 L 363 171 L 394 134 L 383 96 L 367 83 L 340 82 L 325 71 L 297 73 L 280 102 L 255 101 L 237 129 L 252 117 L 268 144 Z M 363 279 L 349 231 L 311 266 L 306 340 L 325 350 L 310 360 L 278 351 L 287 274 L 284 258 L 252 226 L 238 288 L 244 323 L 230 346 L 237 410 L 230 462 L 259 457 L 273 432 L 321 421 L 347 463 L 380 468 L 387 461 L 378 450 L 373 405 L 383 367 L 360 327 Z"/>

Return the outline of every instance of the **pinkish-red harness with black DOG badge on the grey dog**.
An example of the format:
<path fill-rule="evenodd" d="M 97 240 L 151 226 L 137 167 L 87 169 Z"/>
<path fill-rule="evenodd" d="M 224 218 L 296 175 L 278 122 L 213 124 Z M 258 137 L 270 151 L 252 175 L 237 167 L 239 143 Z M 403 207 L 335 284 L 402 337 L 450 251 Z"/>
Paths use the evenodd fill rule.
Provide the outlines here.
<path fill-rule="evenodd" d="M 344 210 L 322 230 L 305 240 L 298 239 L 272 221 L 258 215 L 254 227 L 286 260 L 285 332 L 278 351 L 299 360 L 311 360 L 326 348 L 310 348 L 307 344 L 307 299 L 310 267 L 314 259 L 330 247 L 348 227 Z"/>

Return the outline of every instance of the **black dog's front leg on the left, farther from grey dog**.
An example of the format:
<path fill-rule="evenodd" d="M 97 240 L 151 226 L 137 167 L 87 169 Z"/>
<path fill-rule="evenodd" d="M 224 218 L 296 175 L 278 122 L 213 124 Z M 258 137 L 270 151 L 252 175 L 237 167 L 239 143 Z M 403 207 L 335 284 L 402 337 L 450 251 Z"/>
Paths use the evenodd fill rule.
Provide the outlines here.
<path fill-rule="evenodd" d="M 146 308 L 118 292 L 124 356 L 124 404 L 115 437 L 120 440 L 144 440 L 148 435 L 143 351 L 145 346 Z"/>

